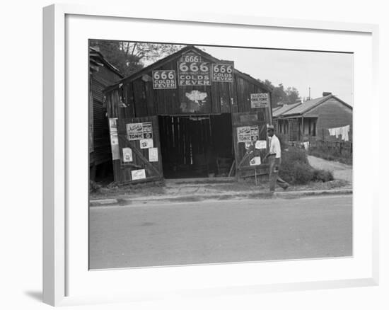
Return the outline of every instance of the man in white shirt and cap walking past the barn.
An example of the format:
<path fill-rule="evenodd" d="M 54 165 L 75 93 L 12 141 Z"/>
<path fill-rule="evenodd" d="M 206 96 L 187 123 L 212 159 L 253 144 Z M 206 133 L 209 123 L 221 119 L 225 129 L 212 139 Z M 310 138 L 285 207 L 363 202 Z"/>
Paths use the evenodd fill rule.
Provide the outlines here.
<path fill-rule="evenodd" d="M 276 183 L 284 190 L 289 187 L 289 184 L 278 176 L 279 166 L 281 165 L 281 145 L 279 144 L 279 139 L 274 134 L 273 125 L 267 127 L 267 134 L 270 141 L 269 153 L 266 154 L 265 159 L 269 159 L 269 187 L 270 193 L 274 193 Z"/>

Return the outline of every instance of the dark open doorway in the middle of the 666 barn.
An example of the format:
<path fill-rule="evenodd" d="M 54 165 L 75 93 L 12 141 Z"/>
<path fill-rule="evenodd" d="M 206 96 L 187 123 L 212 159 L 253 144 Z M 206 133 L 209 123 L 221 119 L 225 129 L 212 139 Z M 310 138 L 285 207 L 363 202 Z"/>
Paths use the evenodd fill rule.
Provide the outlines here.
<path fill-rule="evenodd" d="M 159 129 L 165 178 L 228 176 L 231 114 L 159 116 Z"/>

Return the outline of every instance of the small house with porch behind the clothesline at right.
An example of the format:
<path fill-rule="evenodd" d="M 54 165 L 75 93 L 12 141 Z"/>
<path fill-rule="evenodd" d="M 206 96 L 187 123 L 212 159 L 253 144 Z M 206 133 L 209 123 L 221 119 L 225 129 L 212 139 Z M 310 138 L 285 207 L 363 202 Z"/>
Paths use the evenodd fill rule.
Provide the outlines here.
<path fill-rule="evenodd" d="M 290 141 L 325 139 L 330 130 L 340 127 L 349 127 L 348 140 L 352 140 L 352 106 L 332 93 L 273 110 L 273 120 L 277 132 Z"/>

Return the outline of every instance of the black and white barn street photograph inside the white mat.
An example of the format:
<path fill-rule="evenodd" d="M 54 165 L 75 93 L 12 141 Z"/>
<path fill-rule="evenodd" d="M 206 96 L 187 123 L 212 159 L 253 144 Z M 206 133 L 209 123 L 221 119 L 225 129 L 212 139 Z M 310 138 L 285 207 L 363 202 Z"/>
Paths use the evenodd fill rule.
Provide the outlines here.
<path fill-rule="evenodd" d="M 352 52 L 86 52 L 91 270 L 353 256 Z"/>

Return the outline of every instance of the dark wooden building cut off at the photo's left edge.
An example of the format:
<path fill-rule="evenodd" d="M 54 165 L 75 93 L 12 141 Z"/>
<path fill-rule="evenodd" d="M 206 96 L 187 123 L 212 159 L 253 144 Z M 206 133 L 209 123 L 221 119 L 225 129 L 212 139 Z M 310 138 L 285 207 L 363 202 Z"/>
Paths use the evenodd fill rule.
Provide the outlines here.
<path fill-rule="evenodd" d="M 98 50 L 89 48 L 89 166 L 90 178 L 112 166 L 108 117 L 103 108 L 103 89 L 123 78 Z"/>

